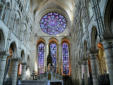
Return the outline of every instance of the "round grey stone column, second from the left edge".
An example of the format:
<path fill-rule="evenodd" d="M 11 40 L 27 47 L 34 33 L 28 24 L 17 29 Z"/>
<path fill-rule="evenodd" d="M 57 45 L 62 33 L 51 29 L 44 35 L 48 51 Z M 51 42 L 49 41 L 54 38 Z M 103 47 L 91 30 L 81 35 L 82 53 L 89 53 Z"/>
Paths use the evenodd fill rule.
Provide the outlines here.
<path fill-rule="evenodd" d="M 18 72 L 18 58 L 13 58 L 13 68 L 12 68 L 12 85 L 16 85 L 17 82 L 17 72 Z"/>

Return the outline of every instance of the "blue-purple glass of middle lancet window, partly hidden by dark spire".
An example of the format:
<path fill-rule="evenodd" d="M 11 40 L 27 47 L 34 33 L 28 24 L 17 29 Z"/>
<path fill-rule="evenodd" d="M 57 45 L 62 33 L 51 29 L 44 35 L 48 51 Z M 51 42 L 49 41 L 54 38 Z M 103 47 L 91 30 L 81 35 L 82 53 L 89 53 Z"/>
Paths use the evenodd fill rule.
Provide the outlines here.
<path fill-rule="evenodd" d="M 57 57 L 57 45 L 56 43 L 50 44 L 50 51 L 51 51 L 51 57 L 52 57 L 52 65 L 54 68 L 54 72 L 56 72 L 56 57 Z"/>

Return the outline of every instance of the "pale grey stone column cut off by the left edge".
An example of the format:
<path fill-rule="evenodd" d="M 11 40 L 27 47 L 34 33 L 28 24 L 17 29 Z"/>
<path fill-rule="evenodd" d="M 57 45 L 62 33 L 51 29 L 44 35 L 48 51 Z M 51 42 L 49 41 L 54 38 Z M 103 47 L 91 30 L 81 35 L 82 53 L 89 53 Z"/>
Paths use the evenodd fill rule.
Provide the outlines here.
<path fill-rule="evenodd" d="M 0 55 L 1 56 L 1 55 Z M 5 65 L 6 65 L 6 59 L 7 56 L 3 55 L 1 57 L 1 62 L 0 62 L 0 85 L 3 84 L 3 79 L 4 79 L 4 72 L 5 72 Z"/>

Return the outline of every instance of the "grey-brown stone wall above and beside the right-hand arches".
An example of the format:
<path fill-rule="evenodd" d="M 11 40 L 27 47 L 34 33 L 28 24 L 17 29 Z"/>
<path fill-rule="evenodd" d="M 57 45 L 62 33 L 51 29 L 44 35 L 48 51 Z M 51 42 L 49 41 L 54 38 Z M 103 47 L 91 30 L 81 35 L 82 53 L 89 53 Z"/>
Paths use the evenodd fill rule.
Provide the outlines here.
<path fill-rule="evenodd" d="M 104 20 L 104 13 L 105 10 L 105 3 L 102 0 L 98 1 L 98 5 L 101 13 L 101 18 Z M 103 5 L 103 6 L 102 6 Z M 74 22 L 71 30 L 71 45 L 72 45 L 72 78 L 76 80 L 82 79 L 82 73 L 81 73 L 81 65 L 83 59 L 85 56 L 85 50 L 84 50 L 84 41 L 87 41 L 87 52 L 89 52 L 91 48 L 91 32 L 92 28 L 96 27 L 98 36 L 96 40 L 96 44 L 100 42 L 102 34 L 102 29 L 99 27 L 99 24 L 97 23 L 97 15 L 95 15 L 95 9 L 93 7 L 93 3 L 91 0 L 76 0 L 75 4 L 75 16 L 74 16 Z M 101 20 L 100 20 L 101 22 Z M 97 25 L 98 24 L 98 25 Z M 97 66 L 98 67 L 98 66 Z"/>

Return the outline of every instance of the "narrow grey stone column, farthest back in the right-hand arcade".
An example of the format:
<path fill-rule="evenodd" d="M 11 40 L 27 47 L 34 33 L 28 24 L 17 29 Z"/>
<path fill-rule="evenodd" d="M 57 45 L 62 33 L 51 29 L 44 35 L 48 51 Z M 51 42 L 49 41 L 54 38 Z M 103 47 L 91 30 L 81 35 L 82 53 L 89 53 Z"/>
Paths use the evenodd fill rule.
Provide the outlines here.
<path fill-rule="evenodd" d="M 83 60 L 84 66 L 84 85 L 88 85 L 88 61 Z"/>

